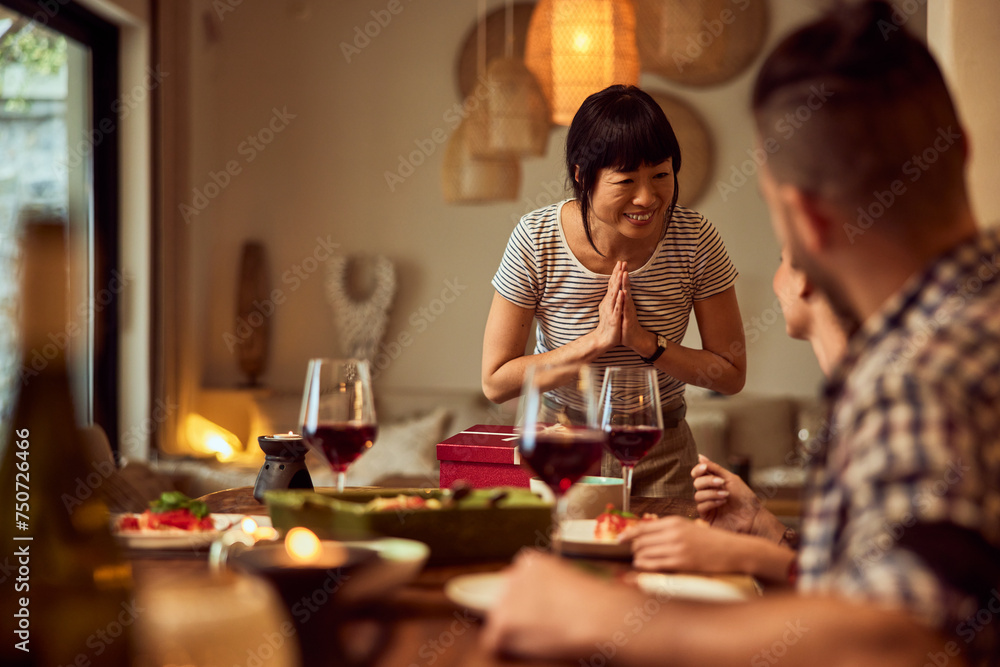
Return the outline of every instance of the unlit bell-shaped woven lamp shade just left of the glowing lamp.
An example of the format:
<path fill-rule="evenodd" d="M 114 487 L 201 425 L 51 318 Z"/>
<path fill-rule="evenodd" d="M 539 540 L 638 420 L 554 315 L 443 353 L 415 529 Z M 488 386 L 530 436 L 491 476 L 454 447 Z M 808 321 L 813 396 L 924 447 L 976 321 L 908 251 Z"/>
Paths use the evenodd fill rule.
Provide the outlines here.
<path fill-rule="evenodd" d="M 518 58 L 497 58 L 486 69 L 483 104 L 466 121 L 476 157 L 545 155 L 549 107 L 535 75 Z"/>

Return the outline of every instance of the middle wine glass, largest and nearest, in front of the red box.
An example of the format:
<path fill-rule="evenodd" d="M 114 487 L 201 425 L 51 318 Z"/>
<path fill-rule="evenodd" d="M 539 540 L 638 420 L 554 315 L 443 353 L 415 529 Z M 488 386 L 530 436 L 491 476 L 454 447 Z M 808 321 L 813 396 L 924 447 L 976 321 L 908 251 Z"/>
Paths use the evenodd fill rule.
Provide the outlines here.
<path fill-rule="evenodd" d="M 584 365 L 535 365 L 518 403 L 521 458 L 552 490 L 553 551 L 566 515 L 566 492 L 601 458 L 607 436 L 597 419 L 594 371 Z"/>

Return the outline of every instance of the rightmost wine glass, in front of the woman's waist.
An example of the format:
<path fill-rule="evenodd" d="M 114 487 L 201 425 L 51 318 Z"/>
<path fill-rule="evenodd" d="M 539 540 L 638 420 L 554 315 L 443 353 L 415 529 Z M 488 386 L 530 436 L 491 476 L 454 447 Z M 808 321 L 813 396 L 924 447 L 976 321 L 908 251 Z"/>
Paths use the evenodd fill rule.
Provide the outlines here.
<path fill-rule="evenodd" d="M 601 428 L 608 450 L 622 464 L 622 510 L 629 511 L 635 465 L 663 437 L 663 410 L 656 369 L 610 366 L 601 385 Z"/>

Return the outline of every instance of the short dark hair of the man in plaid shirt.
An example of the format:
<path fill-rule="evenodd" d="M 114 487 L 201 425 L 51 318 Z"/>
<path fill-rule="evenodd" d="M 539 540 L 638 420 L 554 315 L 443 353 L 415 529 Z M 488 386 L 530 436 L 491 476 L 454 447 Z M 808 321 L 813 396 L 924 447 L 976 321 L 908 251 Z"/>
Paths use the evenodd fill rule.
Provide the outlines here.
<path fill-rule="evenodd" d="M 966 148 L 941 70 L 894 11 L 841 2 L 785 38 L 752 106 L 779 183 L 849 215 L 926 220 L 965 197 Z"/>

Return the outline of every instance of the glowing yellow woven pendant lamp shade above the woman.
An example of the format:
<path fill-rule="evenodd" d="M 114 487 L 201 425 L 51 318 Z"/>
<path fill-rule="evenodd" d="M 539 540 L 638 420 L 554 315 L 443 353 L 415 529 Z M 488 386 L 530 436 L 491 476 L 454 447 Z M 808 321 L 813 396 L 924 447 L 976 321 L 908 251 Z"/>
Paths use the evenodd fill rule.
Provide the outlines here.
<path fill-rule="evenodd" d="M 631 0 L 540 0 L 524 62 L 549 100 L 552 121 L 569 125 L 589 95 L 639 83 Z"/>

